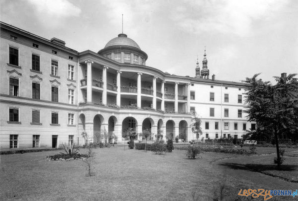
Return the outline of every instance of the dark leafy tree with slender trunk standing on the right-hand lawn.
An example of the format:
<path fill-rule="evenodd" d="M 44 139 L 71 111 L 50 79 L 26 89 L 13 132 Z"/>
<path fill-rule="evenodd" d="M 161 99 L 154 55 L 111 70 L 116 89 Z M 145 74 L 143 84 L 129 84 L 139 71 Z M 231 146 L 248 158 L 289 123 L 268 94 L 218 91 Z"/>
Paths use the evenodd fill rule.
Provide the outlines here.
<path fill-rule="evenodd" d="M 257 122 L 260 128 L 274 134 L 277 168 L 280 169 L 278 138 L 285 132 L 297 130 L 298 126 L 298 81 L 294 78 L 296 74 L 289 74 L 287 77 L 274 77 L 277 84 L 271 85 L 257 79 L 258 75 L 246 78 L 246 113 L 249 121 Z"/>

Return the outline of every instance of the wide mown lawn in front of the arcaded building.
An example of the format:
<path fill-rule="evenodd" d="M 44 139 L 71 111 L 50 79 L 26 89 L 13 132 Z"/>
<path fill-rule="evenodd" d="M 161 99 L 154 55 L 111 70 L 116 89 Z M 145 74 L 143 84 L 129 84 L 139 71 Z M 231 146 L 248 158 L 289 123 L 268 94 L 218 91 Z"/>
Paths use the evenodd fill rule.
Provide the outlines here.
<path fill-rule="evenodd" d="M 191 160 L 184 150 L 176 149 L 166 155 L 123 151 L 120 145 L 93 151 L 91 177 L 86 176 L 86 164 L 80 160 L 46 160 L 59 151 L 1 155 L 0 200 L 250 200 L 237 195 L 240 189 L 297 188 L 297 183 L 231 165 L 253 164 L 254 160 L 259 164 L 262 157 L 269 161 L 273 155 L 204 152 Z M 298 159 L 297 152 L 291 153 L 289 163 Z M 296 174 L 297 164 L 292 165 L 285 174 Z"/>

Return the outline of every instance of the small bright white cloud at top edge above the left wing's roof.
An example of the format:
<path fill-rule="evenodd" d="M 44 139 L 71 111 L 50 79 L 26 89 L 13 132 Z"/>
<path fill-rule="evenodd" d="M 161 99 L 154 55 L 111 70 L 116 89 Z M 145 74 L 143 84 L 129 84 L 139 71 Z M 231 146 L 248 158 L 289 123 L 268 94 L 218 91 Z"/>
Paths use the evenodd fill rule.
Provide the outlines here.
<path fill-rule="evenodd" d="M 38 13 L 46 14 L 49 16 L 59 17 L 72 17 L 79 16 L 81 9 L 67 0 L 28 0 L 35 6 Z"/>

